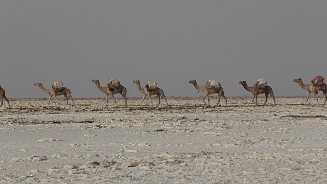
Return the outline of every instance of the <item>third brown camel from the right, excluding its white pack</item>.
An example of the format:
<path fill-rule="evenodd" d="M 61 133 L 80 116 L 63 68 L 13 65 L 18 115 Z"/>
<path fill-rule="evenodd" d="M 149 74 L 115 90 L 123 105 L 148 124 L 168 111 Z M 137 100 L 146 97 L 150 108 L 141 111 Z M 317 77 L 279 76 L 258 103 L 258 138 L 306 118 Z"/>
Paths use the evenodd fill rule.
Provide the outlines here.
<path fill-rule="evenodd" d="M 215 94 L 217 93 L 218 94 L 218 103 L 216 106 L 218 106 L 218 104 L 220 103 L 220 98 L 221 97 L 224 97 L 225 99 L 225 106 L 227 107 L 227 98 L 225 97 L 224 95 L 224 89 L 222 87 L 219 87 L 219 88 L 209 88 L 209 86 L 206 84 L 204 86 L 198 86 L 198 84 L 196 83 L 196 80 L 190 80 L 189 83 L 192 83 L 194 85 L 194 87 L 196 89 L 199 90 L 203 90 L 204 91 L 204 98 L 202 99 L 203 102 L 205 103 L 205 98 L 208 97 L 208 106 L 210 106 L 210 98 L 209 98 L 209 95 L 211 94 Z M 205 103 L 206 105 L 206 103 Z"/>

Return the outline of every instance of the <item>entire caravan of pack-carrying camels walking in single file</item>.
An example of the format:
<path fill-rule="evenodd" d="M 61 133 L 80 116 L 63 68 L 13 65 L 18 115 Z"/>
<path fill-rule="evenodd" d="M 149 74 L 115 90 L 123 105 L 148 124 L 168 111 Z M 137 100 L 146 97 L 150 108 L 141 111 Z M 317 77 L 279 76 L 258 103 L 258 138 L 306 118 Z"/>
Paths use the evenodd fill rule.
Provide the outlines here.
<path fill-rule="evenodd" d="M 100 85 L 100 81 L 97 79 L 93 79 L 92 82 L 94 82 L 97 86 L 97 88 L 102 91 L 103 93 L 106 94 L 106 103 L 104 105 L 104 108 L 107 107 L 108 105 L 108 98 L 109 96 L 111 97 L 111 99 L 114 101 L 115 103 L 115 107 L 119 107 L 119 105 L 117 104 L 114 95 L 116 94 L 121 94 L 122 97 L 124 98 L 124 108 L 127 107 L 127 101 L 128 98 L 126 97 L 127 94 L 127 89 L 126 87 L 124 87 L 123 85 L 121 85 L 121 82 L 119 79 L 117 78 L 112 78 L 108 80 L 107 85 L 105 86 L 101 86 Z M 158 107 L 160 105 L 160 99 L 163 98 L 166 102 L 166 106 L 169 107 L 166 96 L 164 94 L 164 91 L 157 87 L 157 83 L 155 81 L 148 81 L 146 82 L 145 87 L 141 86 L 141 82 L 139 80 L 133 80 L 133 83 L 136 84 L 138 90 L 143 94 L 143 98 L 141 100 L 141 104 L 139 105 L 140 107 L 142 106 L 144 100 L 146 97 L 148 97 L 151 101 L 151 105 L 152 107 L 154 107 L 153 105 L 153 98 L 152 96 L 156 96 L 156 98 L 158 99 L 158 104 L 155 107 Z M 324 83 L 324 78 L 322 76 L 316 76 L 315 78 L 313 78 L 309 84 L 303 84 L 302 79 L 301 78 L 296 78 L 293 80 L 293 82 L 297 82 L 298 85 L 303 88 L 306 89 L 308 91 L 308 95 L 307 95 L 307 99 L 305 102 L 305 105 L 307 105 L 307 102 L 309 100 L 310 94 L 312 93 L 315 97 L 315 99 L 317 100 L 317 103 L 319 105 L 319 101 L 318 101 L 318 97 L 316 94 L 318 94 L 318 91 L 322 91 L 323 96 L 324 96 L 324 103 L 322 105 L 325 105 L 325 103 L 327 102 L 327 85 L 326 83 Z M 225 106 L 227 106 L 227 98 L 224 95 L 224 89 L 221 86 L 220 82 L 216 81 L 216 80 L 211 80 L 209 79 L 208 81 L 205 82 L 205 84 L 203 86 L 199 86 L 197 84 L 196 80 L 190 80 L 189 83 L 193 84 L 194 87 L 199 91 L 203 91 L 204 92 L 204 97 L 202 98 L 202 101 L 204 102 L 205 106 L 210 106 L 210 98 L 209 95 L 212 94 L 218 94 L 218 102 L 216 104 L 216 106 L 219 106 L 221 97 L 224 98 L 225 100 Z M 256 105 L 259 106 L 258 104 L 258 95 L 260 94 L 265 94 L 265 102 L 263 103 L 262 106 L 265 106 L 267 101 L 268 101 L 268 96 L 270 95 L 270 97 L 273 99 L 274 101 L 274 106 L 276 106 L 276 100 L 273 94 L 273 89 L 267 85 L 268 82 L 265 79 L 259 79 L 257 80 L 253 86 L 249 87 L 246 83 L 246 81 L 240 81 L 240 84 L 242 84 L 242 86 L 250 91 L 253 94 L 253 98 L 252 98 L 252 102 Z M 73 102 L 73 105 L 75 108 L 77 108 L 77 106 L 75 105 L 74 99 L 71 95 L 71 90 L 64 87 L 63 83 L 61 81 L 55 81 L 52 85 L 51 88 L 46 89 L 43 87 L 43 85 L 39 82 L 39 83 L 35 83 L 35 86 L 38 86 L 42 91 L 44 91 L 44 93 L 49 94 L 49 101 L 46 104 L 46 108 L 49 107 L 50 101 L 52 99 L 52 97 L 55 98 L 58 107 L 59 106 L 59 101 L 57 99 L 57 96 L 64 96 L 65 99 L 65 105 L 63 107 L 63 109 L 65 109 L 65 107 L 68 104 L 68 99 L 71 100 Z M 280 92 L 279 92 L 280 93 Z M 5 99 L 8 102 L 8 106 L 10 107 L 10 102 L 8 100 L 8 98 L 5 95 L 5 90 L 0 86 L 0 100 L 1 100 L 1 104 L 0 107 L 3 106 L 3 99 Z M 205 101 L 205 99 L 207 99 L 207 102 Z M 254 101 L 255 99 L 255 101 Z"/>

